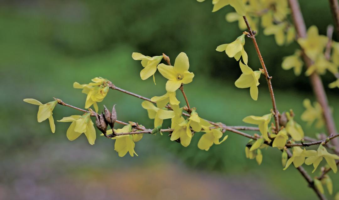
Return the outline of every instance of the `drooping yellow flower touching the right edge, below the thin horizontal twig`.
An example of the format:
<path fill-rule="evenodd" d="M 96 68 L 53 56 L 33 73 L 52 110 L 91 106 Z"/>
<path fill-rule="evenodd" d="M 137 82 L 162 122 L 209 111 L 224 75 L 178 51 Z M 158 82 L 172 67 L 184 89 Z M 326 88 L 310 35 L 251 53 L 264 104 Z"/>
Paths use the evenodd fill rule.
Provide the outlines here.
<path fill-rule="evenodd" d="M 317 155 L 306 158 L 305 164 L 306 165 L 313 164 L 313 167 L 314 167 L 314 170 L 312 171 L 313 173 L 316 171 L 322 158 L 325 158 L 327 164 L 331 167 L 333 172 L 337 173 L 337 164 L 336 164 L 335 159 L 338 160 L 339 156 L 337 156 L 336 154 L 328 153 L 325 147 L 323 147 L 322 145 L 319 145 L 318 150 L 317 150 Z"/>

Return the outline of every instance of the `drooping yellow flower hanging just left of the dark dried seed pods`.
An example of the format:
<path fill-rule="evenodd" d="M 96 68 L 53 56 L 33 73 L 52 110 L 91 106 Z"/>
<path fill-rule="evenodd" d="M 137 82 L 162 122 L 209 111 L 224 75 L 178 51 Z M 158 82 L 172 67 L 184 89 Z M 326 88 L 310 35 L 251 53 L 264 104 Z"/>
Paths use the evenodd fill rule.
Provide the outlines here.
<path fill-rule="evenodd" d="M 85 133 L 88 143 L 94 145 L 96 133 L 94 124 L 91 120 L 91 114 L 85 113 L 84 115 L 72 115 L 64 117 L 58 122 L 72 122 L 67 129 L 66 136 L 68 140 L 73 141 L 77 139 L 81 133 Z"/>

